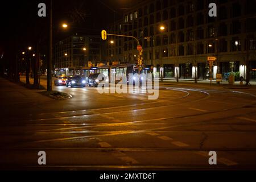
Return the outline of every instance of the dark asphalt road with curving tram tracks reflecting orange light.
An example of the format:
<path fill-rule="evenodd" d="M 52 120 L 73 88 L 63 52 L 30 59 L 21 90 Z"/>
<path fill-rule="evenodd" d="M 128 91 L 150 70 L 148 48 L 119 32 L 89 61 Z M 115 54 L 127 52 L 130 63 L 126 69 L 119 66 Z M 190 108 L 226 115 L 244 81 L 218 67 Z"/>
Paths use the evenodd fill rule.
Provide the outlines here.
<path fill-rule="evenodd" d="M 57 101 L 0 80 L 1 169 L 256 168 L 255 88 L 162 84 L 147 100 L 53 86 L 73 96 Z"/>

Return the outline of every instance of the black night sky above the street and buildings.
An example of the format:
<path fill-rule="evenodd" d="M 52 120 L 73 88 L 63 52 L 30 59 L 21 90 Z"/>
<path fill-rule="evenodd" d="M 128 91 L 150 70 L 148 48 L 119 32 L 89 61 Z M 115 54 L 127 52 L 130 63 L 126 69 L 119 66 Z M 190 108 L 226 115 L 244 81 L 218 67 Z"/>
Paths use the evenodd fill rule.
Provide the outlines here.
<path fill-rule="evenodd" d="M 122 18 L 123 9 L 140 1 L 142 0 L 53 0 L 53 42 L 75 31 L 63 31 L 61 22 L 68 22 L 73 27 L 101 30 L 113 23 L 114 18 Z M 46 3 L 48 10 L 48 0 L 1 1 L 0 51 L 5 49 L 5 52 L 8 52 L 10 49 L 19 50 L 34 45 L 39 38 L 43 39 L 42 42 L 48 40 L 47 18 L 38 17 L 40 2 Z M 79 14 L 82 14 L 83 18 L 77 18 Z"/>

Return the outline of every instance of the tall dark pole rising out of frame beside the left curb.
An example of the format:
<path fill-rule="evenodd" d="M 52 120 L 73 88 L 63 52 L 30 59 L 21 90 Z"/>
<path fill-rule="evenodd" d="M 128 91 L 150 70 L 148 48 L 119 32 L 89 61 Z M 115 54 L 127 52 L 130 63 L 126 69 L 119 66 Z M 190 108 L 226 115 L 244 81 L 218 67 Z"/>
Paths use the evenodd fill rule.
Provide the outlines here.
<path fill-rule="evenodd" d="M 47 61 L 47 91 L 52 90 L 52 0 L 49 11 L 49 56 Z"/>

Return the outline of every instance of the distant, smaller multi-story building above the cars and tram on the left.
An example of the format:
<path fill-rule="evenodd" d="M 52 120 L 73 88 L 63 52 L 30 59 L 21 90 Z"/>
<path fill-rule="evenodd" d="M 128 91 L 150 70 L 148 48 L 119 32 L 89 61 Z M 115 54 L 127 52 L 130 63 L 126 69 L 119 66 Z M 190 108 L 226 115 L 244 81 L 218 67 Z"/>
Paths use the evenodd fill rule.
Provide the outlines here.
<path fill-rule="evenodd" d="M 73 75 L 89 63 L 101 61 L 100 36 L 74 35 L 56 43 L 54 50 L 55 69 Z M 67 69 L 68 68 L 68 69 Z M 76 73 L 80 74 L 80 73 Z"/>

